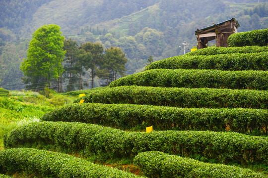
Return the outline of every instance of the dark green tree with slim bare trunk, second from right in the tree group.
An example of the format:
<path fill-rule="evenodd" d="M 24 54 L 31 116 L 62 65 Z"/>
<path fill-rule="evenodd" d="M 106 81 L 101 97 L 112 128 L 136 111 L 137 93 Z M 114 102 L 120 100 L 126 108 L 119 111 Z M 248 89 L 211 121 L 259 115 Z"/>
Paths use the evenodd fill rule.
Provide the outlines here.
<path fill-rule="evenodd" d="M 97 75 L 96 69 L 103 61 L 103 46 L 98 43 L 86 42 L 81 44 L 80 59 L 81 65 L 85 65 L 85 69 L 90 69 L 91 88 L 94 88 L 94 77 Z"/>

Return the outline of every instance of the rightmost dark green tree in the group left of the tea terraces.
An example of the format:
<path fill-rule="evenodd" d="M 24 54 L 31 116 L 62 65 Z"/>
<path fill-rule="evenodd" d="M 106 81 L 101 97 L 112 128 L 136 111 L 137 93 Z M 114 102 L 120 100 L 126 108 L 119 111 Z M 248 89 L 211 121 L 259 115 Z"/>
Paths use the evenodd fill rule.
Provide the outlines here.
<path fill-rule="evenodd" d="M 111 46 L 110 49 L 105 49 L 105 53 L 101 68 L 105 69 L 104 71 L 106 74 L 108 73 L 108 75 L 104 75 L 104 77 L 107 77 L 108 86 L 109 77 L 111 81 L 114 81 L 117 79 L 118 74 L 121 76 L 125 75 L 124 72 L 126 71 L 126 63 L 128 62 L 128 59 L 126 58 L 126 54 L 119 47 Z"/>

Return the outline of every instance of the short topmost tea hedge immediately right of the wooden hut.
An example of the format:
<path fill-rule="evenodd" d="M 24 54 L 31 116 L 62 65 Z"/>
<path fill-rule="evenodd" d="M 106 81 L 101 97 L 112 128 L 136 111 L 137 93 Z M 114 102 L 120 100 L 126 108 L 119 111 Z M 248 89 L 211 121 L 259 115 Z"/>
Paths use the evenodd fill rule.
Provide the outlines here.
<path fill-rule="evenodd" d="M 229 47 L 252 45 L 267 46 L 268 28 L 232 34 L 227 39 L 227 44 Z"/>

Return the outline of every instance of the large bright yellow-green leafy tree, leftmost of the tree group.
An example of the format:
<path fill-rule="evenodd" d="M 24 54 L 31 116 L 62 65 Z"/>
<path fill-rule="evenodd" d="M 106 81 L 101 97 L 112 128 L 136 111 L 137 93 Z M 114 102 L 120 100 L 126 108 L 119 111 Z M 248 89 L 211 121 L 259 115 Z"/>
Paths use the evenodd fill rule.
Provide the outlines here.
<path fill-rule="evenodd" d="M 23 59 L 20 70 L 28 89 L 44 89 L 46 85 L 51 89 L 53 80 L 57 80 L 64 72 L 62 62 L 64 51 L 64 36 L 61 27 L 50 24 L 37 29 L 32 36 L 27 51 L 27 59 Z M 26 87 L 26 88 L 27 88 Z"/>

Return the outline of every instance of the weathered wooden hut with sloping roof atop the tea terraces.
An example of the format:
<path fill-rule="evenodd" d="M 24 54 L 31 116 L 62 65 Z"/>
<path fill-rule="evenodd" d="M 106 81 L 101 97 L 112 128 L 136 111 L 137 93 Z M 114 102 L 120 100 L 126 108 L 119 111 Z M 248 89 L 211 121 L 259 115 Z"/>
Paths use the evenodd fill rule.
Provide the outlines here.
<path fill-rule="evenodd" d="M 227 38 L 231 34 L 237 33 L 238 27 L 240 27 L 239 23 L 232 18 L 209 27 L 198 29 L 196 31 L 198 48 L 201 49 L 207 47 L 207 42 L 211 40 L 216 40 L 217 47 L 227 47 Z"/>

